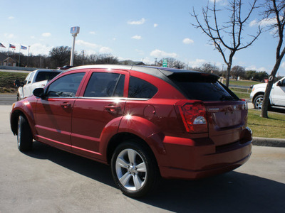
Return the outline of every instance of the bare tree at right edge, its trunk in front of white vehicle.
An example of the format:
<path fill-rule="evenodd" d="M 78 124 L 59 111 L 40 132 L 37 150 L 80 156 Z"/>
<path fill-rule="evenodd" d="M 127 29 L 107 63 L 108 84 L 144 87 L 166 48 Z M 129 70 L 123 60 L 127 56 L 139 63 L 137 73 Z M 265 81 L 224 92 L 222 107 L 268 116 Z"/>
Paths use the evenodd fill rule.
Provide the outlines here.
<path fill-rule="evenodd" d="M 276 47 L 276 61 L 269 76 L 269 82 L 266 86 L 264 99 L 262 102 L 261 117 L 267 118 L 267 110 L 269 106 L 269 95 L 274 83 L 275 75 L 280 67 L 281 60 L 285 54 L 285 47 L 283 45 L 284 26 L 285 26 L 285 1 L 284 0 L 266 0 L 264 11 L 264 20 L 274 21 L 269 27 L 269 30 L 274 31 L 274 37 L 279 38 Z"/>

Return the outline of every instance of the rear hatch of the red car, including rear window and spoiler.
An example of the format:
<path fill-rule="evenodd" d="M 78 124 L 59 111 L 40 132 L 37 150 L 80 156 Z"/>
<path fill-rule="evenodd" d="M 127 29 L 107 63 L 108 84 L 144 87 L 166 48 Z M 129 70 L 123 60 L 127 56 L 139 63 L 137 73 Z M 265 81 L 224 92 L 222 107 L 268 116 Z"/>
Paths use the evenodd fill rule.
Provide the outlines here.
<path fill-rule="evenodd" d="M 205 106 L 207 131 L 216 146 L 242 140 L 242 131 L 247 126 L 247 102 L 220 83 L 218 76 L 201 72 L 176 72 L 168 77 L 189 102 L 194 105 L 199 102 Z M 187 119 L 187 115 L 185 117 Z"/>

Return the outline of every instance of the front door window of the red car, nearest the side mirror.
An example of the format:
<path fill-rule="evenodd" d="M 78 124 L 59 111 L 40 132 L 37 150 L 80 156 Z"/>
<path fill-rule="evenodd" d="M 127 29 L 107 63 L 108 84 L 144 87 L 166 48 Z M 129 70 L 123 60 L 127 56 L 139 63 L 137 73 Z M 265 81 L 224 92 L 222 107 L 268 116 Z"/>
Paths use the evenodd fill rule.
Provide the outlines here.
<path fill-rule="evenodd" d="M 65 75 L 49 85 L 47 97 L 75 97 L 85 72 Z"/>

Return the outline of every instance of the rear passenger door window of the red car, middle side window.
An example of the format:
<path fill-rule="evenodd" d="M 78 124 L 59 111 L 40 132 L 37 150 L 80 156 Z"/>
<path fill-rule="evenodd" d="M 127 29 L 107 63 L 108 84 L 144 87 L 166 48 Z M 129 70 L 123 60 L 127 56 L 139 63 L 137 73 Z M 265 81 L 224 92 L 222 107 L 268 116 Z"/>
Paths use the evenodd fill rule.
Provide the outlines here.
<path fill-rule="evenodd" d="M 125 75 L 93 72 L 83 97 L 123 97 Z"/>

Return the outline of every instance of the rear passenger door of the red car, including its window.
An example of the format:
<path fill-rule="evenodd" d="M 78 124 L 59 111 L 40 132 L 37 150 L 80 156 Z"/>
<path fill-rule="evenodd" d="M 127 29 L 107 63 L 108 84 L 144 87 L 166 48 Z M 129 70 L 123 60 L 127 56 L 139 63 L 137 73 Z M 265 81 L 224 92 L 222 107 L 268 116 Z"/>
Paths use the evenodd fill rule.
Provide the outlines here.
<path fill-rule="evenodd" d="M 90 72 L 90 79 L 73 107 L 71 143 L 73 151 L 83 155 L 100 155 L 100 136 L 108 124 L 118 126 L 125 108 L 128 72 Z M 114 122 L 114 123 L 113 123 Z"/>

